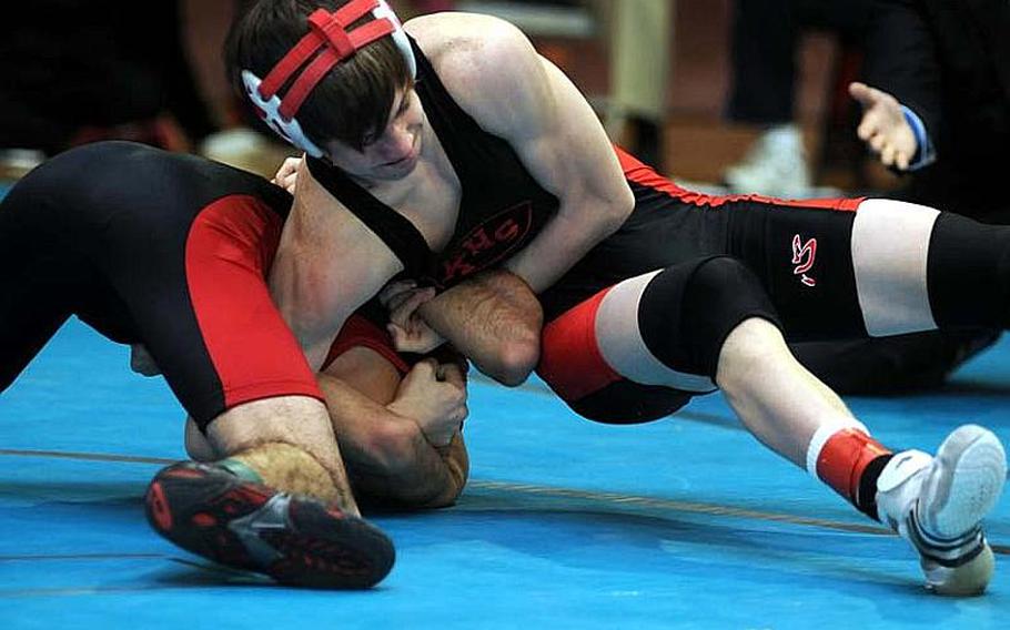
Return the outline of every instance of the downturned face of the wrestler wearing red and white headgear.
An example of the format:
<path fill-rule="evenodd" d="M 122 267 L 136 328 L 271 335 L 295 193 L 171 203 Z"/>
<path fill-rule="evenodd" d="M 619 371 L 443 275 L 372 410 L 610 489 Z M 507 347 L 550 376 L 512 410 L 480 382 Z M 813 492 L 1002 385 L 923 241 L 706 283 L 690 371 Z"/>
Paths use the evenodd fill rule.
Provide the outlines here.
<path fill-rule="evenodd" d="M 424 111 L 413 89 L 393 99 L 385 129 L 365 139 L 361 151 L 331 142 L 326 149 L 334 166 L 364 180 L 400 180 L 411 174 L 421 155 Z"/>

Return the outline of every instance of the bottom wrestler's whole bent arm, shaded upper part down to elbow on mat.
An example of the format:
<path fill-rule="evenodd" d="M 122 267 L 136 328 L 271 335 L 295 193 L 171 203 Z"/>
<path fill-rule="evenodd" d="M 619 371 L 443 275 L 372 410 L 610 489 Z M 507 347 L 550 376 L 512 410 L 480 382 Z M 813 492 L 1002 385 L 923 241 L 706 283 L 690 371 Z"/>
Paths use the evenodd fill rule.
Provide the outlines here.
<path fill-rule="evenodd" d="M 358 495 L 418 508 L 452 505 L 469 471 L 463 436 L 436 447 L 416 419 L 391 410 L 400 374 L 366 348 L 344 353 L 319 377 Z"/>

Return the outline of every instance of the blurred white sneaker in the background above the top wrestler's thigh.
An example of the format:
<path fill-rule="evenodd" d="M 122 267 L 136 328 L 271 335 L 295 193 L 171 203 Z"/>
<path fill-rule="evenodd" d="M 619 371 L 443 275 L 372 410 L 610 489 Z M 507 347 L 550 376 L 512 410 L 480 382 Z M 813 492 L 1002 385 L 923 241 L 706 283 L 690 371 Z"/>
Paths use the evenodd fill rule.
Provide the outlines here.
<path fill-rule="evenodd" d="M 810 196 L 810 167 L 799 128 L 784 124 L 766 131 L 741 162 L 726 169 L 723 177 L 734 193 Z"/>

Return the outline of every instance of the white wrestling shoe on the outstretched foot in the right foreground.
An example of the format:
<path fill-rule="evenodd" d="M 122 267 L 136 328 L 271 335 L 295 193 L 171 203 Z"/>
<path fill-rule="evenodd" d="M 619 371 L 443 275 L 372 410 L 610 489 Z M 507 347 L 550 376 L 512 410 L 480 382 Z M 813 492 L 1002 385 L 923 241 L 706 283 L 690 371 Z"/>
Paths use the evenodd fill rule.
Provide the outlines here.
<path fill-rule="evenodd" d="M 936 457 L 905 450 L 880 472 L 877 510 L 920 555 L 926 588 L 939 595 L 986 590 L 996 560 L 981 520 L 1003 491 L 1007 454 L 992 431 L 964 425 Z"/>

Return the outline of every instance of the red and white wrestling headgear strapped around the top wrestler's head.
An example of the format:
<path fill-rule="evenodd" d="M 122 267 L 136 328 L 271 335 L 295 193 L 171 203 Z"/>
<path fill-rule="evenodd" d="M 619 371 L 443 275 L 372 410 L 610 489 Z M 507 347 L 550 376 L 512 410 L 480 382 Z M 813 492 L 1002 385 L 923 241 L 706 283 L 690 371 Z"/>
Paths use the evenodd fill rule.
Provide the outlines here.
<path fill-rule="evenodd" d="M 374 20 L 347 32 L 347 24 L 368 12 Z M 245 93 L 256 105 L 263 121 L 277 135 L 313 158 L 321 158 L 323 151 L 305 138 L 302 125 L 294 115 L 334 65 L 386 35 L 393 37 L 413 77 L 417 72 L 417 65 L 411 42 L 400 19 L 385 0 L 352 0 L 333 13 L 316 9 L 309 17 L 309 33 L 287 51 L 264 79 L 261 80 L 249 70 L 242 71 Z M 322 52 L 319 52 L 320 49 Z M 316 52 L 319 54 L 306 64 Z M 295 77 L 294 82 L 281 99 L 277 92 L 292 77 Z"/>

